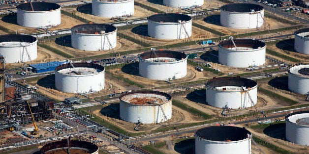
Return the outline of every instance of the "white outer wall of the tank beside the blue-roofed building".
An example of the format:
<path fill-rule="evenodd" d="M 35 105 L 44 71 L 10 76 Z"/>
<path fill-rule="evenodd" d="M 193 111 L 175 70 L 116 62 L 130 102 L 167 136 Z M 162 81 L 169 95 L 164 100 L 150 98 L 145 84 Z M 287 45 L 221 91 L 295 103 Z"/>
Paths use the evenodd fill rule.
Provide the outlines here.
<path fill-rule="evenodd" d="M 104 73 L 102 71 L 90 76 L 67 76 L 55 72 L 55 86 L 57 90 L 66 93 L 86 93 L 104 89 Z"/>

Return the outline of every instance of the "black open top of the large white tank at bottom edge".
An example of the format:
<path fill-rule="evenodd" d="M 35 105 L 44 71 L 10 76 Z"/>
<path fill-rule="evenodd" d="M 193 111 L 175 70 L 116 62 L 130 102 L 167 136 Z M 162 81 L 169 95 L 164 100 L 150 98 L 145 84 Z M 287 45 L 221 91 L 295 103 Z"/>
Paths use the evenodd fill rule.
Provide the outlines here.
<path fill-rule="evenodd" d="M 211 126 L 198 129 L 195 136 L 205 140 L 217 142 L 233 142 L 247 139 L 247 134 L 251 132 L 246 128 L 239 128 L 233 126 Z"/>

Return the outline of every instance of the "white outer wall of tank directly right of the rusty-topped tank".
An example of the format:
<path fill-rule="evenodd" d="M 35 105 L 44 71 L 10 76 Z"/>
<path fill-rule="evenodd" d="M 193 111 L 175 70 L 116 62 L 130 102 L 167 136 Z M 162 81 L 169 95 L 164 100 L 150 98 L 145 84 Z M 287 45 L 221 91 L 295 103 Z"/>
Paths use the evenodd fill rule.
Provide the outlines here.
<path fill-rule="evenodd" d="M 248 92 L 254 104 L 256 104 L 257 87 L 251 88 Z M 206 103 L 219 108 L 224 107 L 225 104 L 229 108 L 247 108 L 252 106 L 246 92 L 217 91 L 210 87 L 206 87 Z"/>

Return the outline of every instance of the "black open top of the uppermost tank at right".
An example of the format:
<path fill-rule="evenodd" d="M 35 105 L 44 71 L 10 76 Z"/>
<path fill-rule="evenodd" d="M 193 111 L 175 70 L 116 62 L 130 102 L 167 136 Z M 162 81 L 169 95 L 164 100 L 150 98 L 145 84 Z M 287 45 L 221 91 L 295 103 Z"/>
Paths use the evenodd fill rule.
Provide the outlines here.
<path fill-rule="evenodd" d="M 250 4 L 250 3 L 234 3 L 234 4 L 226 4 L 221 6 L 221 10 L 228 11 L 228 12 L 239 12 L 239 13 L 246 13 L 246 12 L 253 12 L 261 11 L 264 7 L 257 4 Z"/>

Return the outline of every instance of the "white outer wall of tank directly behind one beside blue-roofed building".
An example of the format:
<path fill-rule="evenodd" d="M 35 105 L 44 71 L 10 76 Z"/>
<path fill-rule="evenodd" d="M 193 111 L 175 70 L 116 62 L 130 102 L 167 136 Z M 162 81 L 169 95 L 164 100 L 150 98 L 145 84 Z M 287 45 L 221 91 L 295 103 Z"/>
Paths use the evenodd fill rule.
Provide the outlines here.
<path fill-rule="evenodd" d="M 108 35 L 83 35 L 80 33 L 71 33 L 71 45 L 73 48 L 85 51 L 99 51 L 99 50 L 109 50 L 110 45 L 107 41 L 108 37 L 112 47 L 117 46 L 117 32 L 110 33 Z"/>

